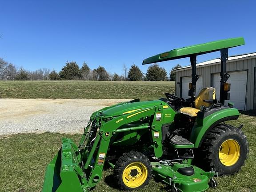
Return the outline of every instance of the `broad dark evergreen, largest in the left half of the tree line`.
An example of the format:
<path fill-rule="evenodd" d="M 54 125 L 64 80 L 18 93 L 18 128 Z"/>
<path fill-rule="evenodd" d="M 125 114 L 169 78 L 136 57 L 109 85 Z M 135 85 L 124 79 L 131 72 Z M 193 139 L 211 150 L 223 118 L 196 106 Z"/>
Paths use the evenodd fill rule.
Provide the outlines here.
<path fill-rule="evenodd" d="M 60 71 L 60 79 L 62 80 L 80 80 L 81 71 L 75 61 L 68 62 Z"/>

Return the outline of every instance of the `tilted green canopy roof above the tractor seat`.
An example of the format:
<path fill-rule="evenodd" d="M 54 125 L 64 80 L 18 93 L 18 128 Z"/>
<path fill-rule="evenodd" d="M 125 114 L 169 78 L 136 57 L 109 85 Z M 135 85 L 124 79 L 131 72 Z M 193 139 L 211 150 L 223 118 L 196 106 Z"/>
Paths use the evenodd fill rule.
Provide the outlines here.
<path fill-rule="evenodd" d="M 192 45 L 189 47 L 176 48 L 168 52 L 160 53 L 145 59 L 142 64 L 151 64 L 167 60 L 175 60 L 192 55 L 202 55 L 209 52 L 216 52 L 224 48 L 232 48 L 244 45 L 244 38 L 230 38 L 225 40 L 212 41 L 204 44 Z"/>

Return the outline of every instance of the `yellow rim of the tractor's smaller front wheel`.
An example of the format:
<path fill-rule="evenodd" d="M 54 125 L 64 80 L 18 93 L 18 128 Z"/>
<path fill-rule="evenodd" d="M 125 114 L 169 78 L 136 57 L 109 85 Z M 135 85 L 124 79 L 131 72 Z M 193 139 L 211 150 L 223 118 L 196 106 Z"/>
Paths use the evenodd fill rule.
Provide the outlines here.
<path fill-rule="evenodd" d="M 133 162 L 124 168 L 123 181 L 129 188 L 138 188 L 148 177 L 147 167 L 140 162 Z"/>

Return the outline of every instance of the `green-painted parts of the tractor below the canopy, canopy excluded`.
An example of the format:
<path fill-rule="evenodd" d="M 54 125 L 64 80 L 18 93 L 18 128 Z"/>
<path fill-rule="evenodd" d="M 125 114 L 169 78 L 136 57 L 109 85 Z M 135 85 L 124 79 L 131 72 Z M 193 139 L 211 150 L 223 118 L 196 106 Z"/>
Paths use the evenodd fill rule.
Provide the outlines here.
<path fill-rule="evenodd" d="M 125 113 L 127 111 L 132 112 Z M 115 116 L 110 116 L 110 112 L 113 112 Z M 151 134 L 151 139 L 148 138 L 151 142 L 149 145 L 144 146 L 144 149 L 153 152 L 156 157 L 161 157 L 163 155 L 162 126 L 164 124 L 173 126 L 175 115 L 176 112 L 170 107 L 167 108 L 167 104 L 160 100 L 127 102 L 94 112 L 80 140 L 80 145 L 90 146 L 90 129 L 94 122 L 98 126 L 96 129 L 98 131 L 94 142 L 92 142 L 91 150 L 86 147 L 82 147 L 79 150 L 72 140 L 64 138 L 62 140 L 62 149 L 47 167 L 43 192 L 68 192 L 74 189 L 77 192 L 89 191 L 102 178 L 105 158 L 108 156 L 108 150 L 111 146 L 127 147 L 134 145 L 140 142 L 141 137 L 144 134 L 148 134 L 148 132 Z M 204 120 L 197 118 L 191 135 L 191 141 L 195 144 L 194 147 L 198 147 L 204 133 L 212 123 L 226 116 L 234 115 L 239 115 L 237 109 L 229 108 L 213 113 Z M 148 123 L 141 121 L 142 123 L 138 125 L 140 120 L 145 117 L 151 117 L 152 120 Z M 115 140 L 118 134 L 123 134 L 122 140 Z M 193 148 L 194 144 L 171 145 L 171 147 Z M 84 162 L 84 167 L 81 166 L 82 161 Z M 176 179 L 172 182 L 175 182 L 181 191 L 196 191 L 196 188 L 204 191 L 208 188 L 209 177 L 201 169 L 193 166 L 196 171 L 194 176 L 182 176 L 175 171 L 179 166 L 188 166 L 189 164 L 191 164 L 191 160 L 187 161 L 186 164 L 175 164 L 172 167 L 162 166 L 162 169 L 155 167 L 154 172 L 157 172 L 156 176 L 161 176 L 165 183 L 168 183 L 169 178 L 175 174 Z M 194 178 L 199 178 L 201 180 L 200 183 L 192 181 Z"/>

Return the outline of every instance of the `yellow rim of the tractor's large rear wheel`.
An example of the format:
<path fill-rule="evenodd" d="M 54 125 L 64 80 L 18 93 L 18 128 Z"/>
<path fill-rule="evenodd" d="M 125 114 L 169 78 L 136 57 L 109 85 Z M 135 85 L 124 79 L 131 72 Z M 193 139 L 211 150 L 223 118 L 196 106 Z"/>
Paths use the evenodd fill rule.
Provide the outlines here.
<path fill-rule="evenodd" d="M 220 162 L 225 166 L 232 166 L 238 161 L 240 153 L 240 145 L 236 140 L 225 140 L 219 150 Z"/>

